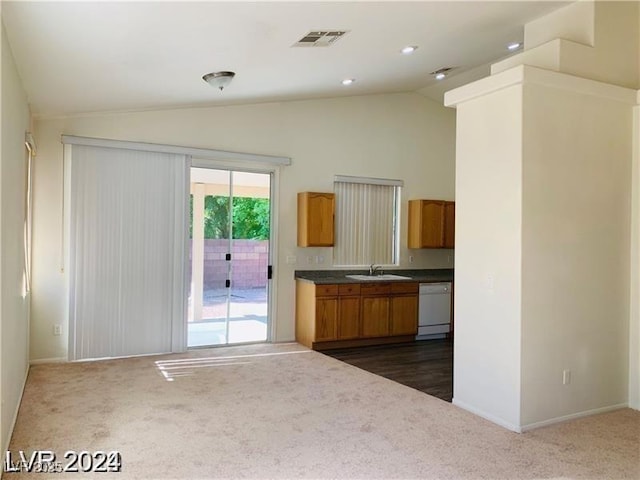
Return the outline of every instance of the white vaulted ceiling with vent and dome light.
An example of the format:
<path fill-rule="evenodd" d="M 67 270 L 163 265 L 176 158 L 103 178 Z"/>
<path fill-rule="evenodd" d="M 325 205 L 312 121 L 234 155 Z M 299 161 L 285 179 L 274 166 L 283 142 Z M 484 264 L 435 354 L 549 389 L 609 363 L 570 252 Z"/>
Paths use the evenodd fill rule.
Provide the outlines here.
<path fill-rule="evenodd" d="M 210 106 L 421 91 L 509 54 L 523 25 L 568 2 L 31 2 L 2 18 L 32 112 Z M 294 47 L 310 31 L 347 33 Z M 418 46 L 411 55 L 400 53 Z M 437 84 L 431 72 L 453 67 Z M 219 91 L 209 72 L 236 76 Z M 343 86 L 341 81 L 355 82 Z"/>

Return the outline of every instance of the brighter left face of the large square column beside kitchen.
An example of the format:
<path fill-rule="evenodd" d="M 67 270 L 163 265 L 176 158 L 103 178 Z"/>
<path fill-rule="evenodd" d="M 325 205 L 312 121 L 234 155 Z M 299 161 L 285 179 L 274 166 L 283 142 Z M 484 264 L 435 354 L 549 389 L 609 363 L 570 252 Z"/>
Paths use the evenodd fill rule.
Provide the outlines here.
<path fill-rule="evenodd" d="M 520 422 L 522 88 L 458 106 L 453 402 Z"/>

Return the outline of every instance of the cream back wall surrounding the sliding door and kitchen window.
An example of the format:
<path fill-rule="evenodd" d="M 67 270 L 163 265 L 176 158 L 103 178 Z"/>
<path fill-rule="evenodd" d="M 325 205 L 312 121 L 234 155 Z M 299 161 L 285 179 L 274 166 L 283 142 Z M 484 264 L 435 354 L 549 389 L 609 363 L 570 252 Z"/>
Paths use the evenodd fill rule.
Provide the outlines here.
<path fill-rule="evenodd" d="M 32 359 L 66 357 L 67 351 L 66 336 L 52 335 L 55 323 L 67 332 L 60 271 L 63 133 L 291 157 L 280 177 L 277 341 L 295 335 L 293 271 L 331 268 L 330 248 L 296 247 L 296 193 L 333 191 L 336 174 L 404 180 L 402 266 L 452 266 L 448 250 L 412 250 L 409 265 L 404 247 L 408 199 L 454 199 L 455 112 L 419 94 L 42 119 L 35 130 Z M 298 263 L 286 264 L 287 255 Z M 325 263 L 307 264 L 315 255 Z"/>

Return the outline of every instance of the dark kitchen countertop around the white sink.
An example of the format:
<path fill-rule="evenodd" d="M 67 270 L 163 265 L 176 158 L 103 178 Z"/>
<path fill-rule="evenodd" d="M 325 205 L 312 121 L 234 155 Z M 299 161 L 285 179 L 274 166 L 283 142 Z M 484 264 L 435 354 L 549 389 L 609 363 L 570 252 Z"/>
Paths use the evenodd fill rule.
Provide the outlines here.
<path fill-rule="evenodd" d="M 317 285 L 338 283 L 370 283 L 373 280 L 354 280 L 346 275 L 367 275 L 368 270 L 296 270 L 296 280 L 303 280 Z M 409 270 L 385 270 L 384 273 L 411 277 L 411 280 L 381 280 L 384 282 L 452 282 L 453 268 L 424 268 Z"/>

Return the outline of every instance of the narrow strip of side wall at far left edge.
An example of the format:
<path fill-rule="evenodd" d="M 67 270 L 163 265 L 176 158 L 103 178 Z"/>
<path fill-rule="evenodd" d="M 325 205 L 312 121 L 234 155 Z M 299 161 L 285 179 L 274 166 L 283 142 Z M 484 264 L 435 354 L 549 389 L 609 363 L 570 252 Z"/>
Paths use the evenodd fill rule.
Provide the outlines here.
<path fill-rule="evenodd" d="M 0 447 L 8 446 L 28 370 L 29 299 L 23 298 L 24 135 L 29 108 L 0 23 Z"/>

